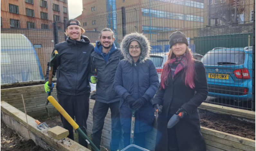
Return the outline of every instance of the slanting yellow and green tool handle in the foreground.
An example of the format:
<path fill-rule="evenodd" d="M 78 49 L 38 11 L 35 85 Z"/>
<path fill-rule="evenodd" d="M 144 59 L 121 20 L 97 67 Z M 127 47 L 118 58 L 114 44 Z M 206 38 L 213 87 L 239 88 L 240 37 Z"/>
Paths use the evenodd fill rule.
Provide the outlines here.
<path fill-rule="evenodd" d="M 88 144 L 91 145 L 91 147 L 95 151 L 100 151 L 95 144 L 88 138 L 88 136 L 82 131 L 82 129 L 79 128 L 78 124 L 69 116 L 69 114 L 59 105 L 59 103 L 52 97 L 48 96 L 48 100 L 51 102 L 51 104 L 59 111 L 59 113 L 69 122 L 69 124 L 78 131 L 78 133 L 86 140 Z"/>

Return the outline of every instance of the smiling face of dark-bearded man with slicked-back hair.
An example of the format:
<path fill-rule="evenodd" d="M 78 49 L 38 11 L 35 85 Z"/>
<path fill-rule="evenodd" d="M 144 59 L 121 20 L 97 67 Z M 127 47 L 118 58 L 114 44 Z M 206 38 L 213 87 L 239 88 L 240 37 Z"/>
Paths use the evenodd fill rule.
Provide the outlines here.
<path fill-rule="evenodd" d="M 101 37 L 100 37 L 100 43 L 105 49 L 111 48 L 113 42 L 113 33 L 111 31 L 102 31 Z"/>

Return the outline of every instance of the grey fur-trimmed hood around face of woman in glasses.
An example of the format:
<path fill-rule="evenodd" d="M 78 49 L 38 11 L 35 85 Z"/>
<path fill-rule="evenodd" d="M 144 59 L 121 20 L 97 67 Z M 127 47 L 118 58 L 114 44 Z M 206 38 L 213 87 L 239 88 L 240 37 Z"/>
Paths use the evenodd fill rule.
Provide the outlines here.
<path fill-rule="evenodd" d="M 133 58 L 129 53 L 129 45 L 133 40 L 138 41 L 141 45 L 141 55 L 139 61 L 143 63 L 150 57 L 149 54 L 151 51 L 151 47 L 148 38 L 138 32 L 130 33 L 123 38 L 123 41 L 121 42 L 121 52 L 123 54 L 123 57 L 131 64 L 133 63 Z"/>

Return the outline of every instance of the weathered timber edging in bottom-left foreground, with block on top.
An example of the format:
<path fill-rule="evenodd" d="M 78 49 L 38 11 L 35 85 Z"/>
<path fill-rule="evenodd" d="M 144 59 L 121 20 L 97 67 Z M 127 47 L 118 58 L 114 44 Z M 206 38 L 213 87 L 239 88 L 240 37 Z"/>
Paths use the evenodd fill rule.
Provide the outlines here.
<path fill-rule="evenodd" d="M 50 128 L 39 130 L 37 129 L 35 119 L 30 116 L 27 118 L 30 136 L 36 145 L 39 145 L 46 150 L 53 151 L 90 151 L 86 147 L 81 146 L 69 138 L 63 138 L 58 141 L 50 138 L 47 134 L 47 130 Z M 29 134 L 26 128 L 27 123 L 25 113 L 6 102 L 1 102 L 1 120 L 4 120 L 7 126 L 17 131 L 25 139 L 29 139 Z"/>

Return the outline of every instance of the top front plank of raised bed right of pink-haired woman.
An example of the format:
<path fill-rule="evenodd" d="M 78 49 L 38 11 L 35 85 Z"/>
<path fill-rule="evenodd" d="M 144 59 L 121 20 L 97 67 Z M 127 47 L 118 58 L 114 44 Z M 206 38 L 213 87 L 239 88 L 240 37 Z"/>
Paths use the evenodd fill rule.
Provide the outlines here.
<path fill-rule="evenodd" d="M 202 132 L 203 136 L 204 136 L 204 134 L 208 134 L 208 135 L 211 135 L 214 137 L 230 140 L 230 141 L 233 141 L 236 143 L 241 143 L 243 145 L 255 148 L 255 140 L 252 140 L 252 139 L 243 138 L 240 136 L 236 136 L 236 135 L 232 135 L 232 134 L 228 134 L 228 133 L 224 133 L 224 132 L 220 132 L 217 130 L 208 129 L 208 128 L 204 128 L 204 127 L 201 127 L 201 132 Z"/>

